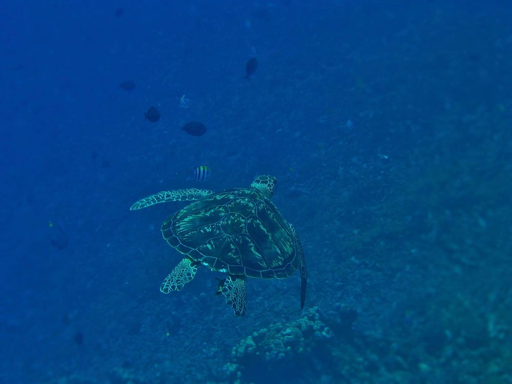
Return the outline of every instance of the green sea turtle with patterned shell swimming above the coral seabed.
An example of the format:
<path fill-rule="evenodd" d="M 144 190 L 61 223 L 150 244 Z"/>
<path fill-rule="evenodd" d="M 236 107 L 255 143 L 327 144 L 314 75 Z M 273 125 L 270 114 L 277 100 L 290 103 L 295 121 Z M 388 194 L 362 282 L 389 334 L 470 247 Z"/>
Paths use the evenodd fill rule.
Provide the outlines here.
<path fill-rule="evenodd" d="M 169 216 L 162 236 L 185 255 L 160 287 L 179 291 L 194 279 L 199 266 L 227 272 L 216 295 L 224 294 L 234 314 L 245 313 L 246 276 L 285 279 L 300 270 L 301 308 L 306 300 L 306 261 L 295 229 L 270 201 L 273 176 L 258 176 L 249 188 L 214 193 L 208 189 L 163 191 L 137 201 L 130 210 L 168 201 L 193 201 Z"/>

